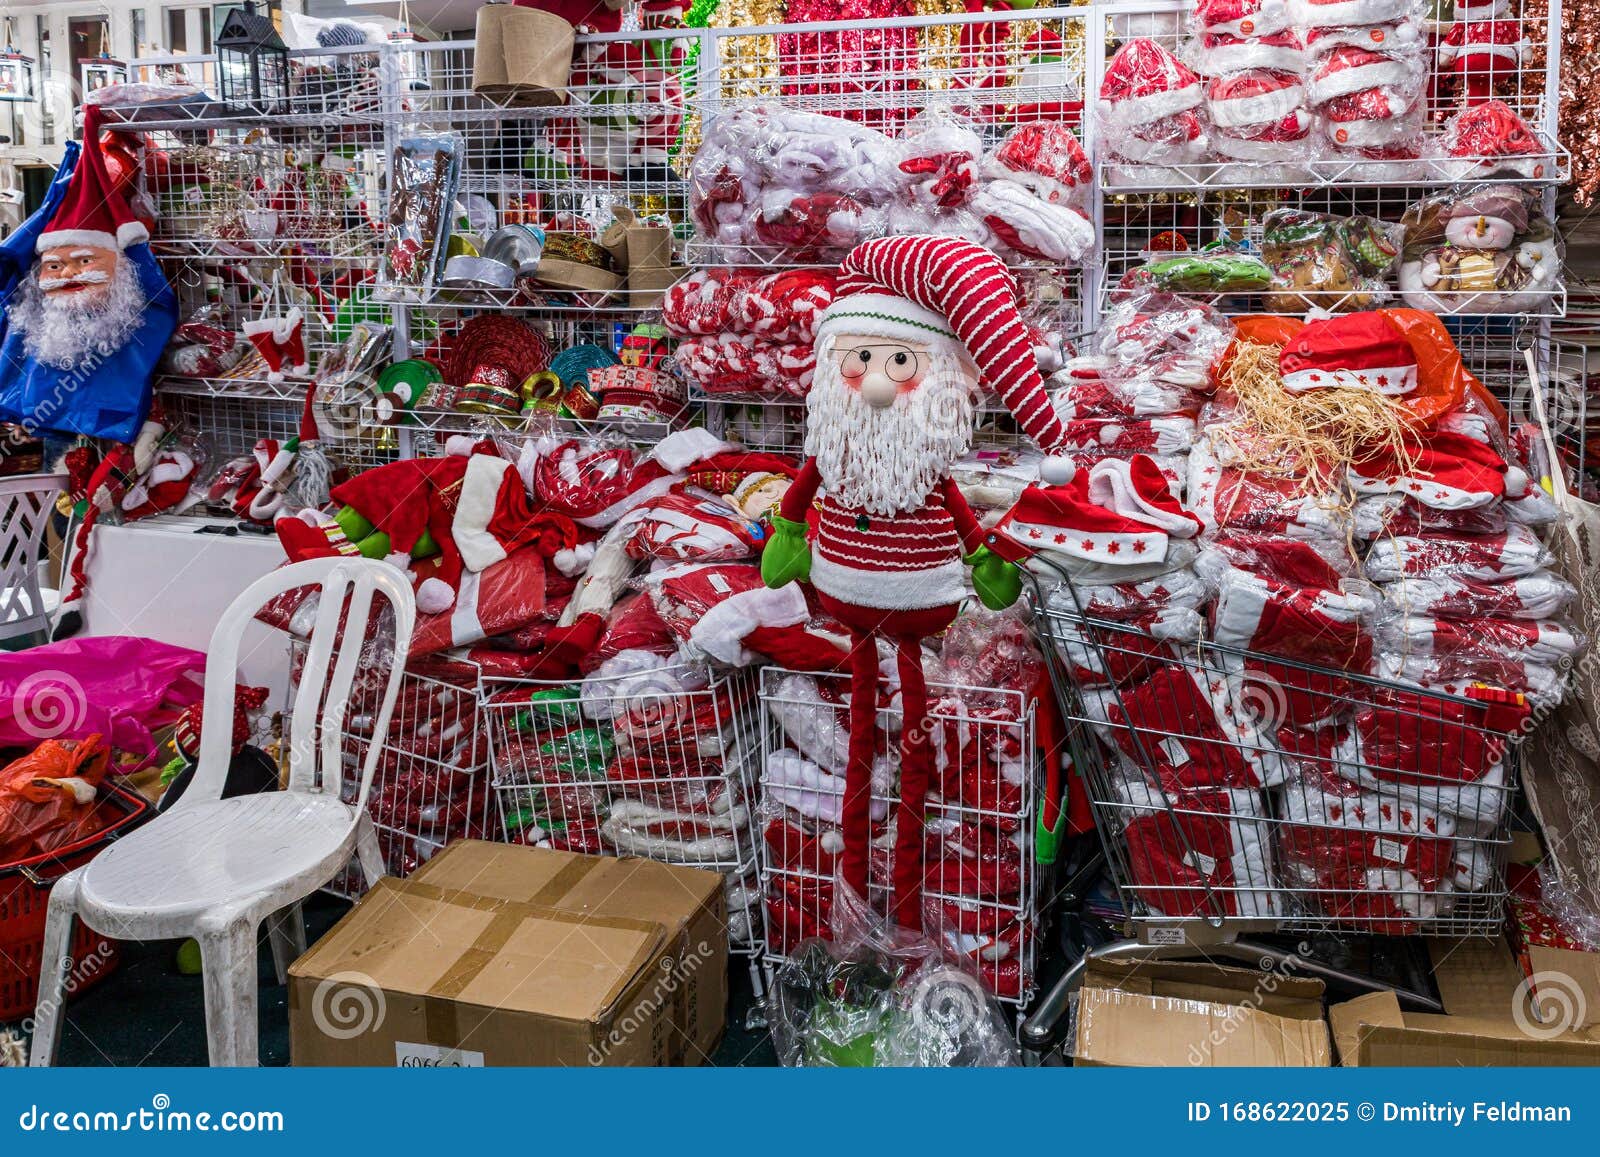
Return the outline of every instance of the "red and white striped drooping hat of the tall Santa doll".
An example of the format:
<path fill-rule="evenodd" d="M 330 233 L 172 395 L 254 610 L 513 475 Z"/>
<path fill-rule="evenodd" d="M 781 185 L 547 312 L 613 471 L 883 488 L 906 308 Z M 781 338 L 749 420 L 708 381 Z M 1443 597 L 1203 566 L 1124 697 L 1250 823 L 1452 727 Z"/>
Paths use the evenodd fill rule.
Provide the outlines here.
<path fill-rule="evenodd" d="M 1024 434 L 1051 450 L 1066 432 L 1016 302 L 1016 278 L 982 245 L 960 237 L 882 237 L 845 258 L 816 342 L 822 349 L 830 334 L 850 333 L 955 355 L 978 371 Z"/>

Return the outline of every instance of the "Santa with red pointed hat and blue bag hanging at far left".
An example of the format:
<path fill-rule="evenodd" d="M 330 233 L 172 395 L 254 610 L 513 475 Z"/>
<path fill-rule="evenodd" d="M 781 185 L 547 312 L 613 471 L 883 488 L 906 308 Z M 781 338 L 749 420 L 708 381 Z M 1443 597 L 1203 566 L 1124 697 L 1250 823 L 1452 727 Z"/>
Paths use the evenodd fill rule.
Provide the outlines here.
<path fill-rule="evenodd" d="M 43 208 L 0 243 L 0 270 L 10 274 L 0 421 L 133 442 L 178 301 L 149 230 L 106 173 L 99 133 L 91 104 L 77 160 L 69 152 Z"/>

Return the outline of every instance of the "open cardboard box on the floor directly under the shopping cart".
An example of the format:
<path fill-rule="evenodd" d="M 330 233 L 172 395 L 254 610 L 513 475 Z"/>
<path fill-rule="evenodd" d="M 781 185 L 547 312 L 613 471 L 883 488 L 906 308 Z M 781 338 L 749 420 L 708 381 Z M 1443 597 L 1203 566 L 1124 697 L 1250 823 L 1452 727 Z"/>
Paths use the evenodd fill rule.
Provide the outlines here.
<path fill-rule="evenodd" d="M 1091 962 L 1074 1063 L 1322 1067 L 1333 1063 L 1323 984 L 1211 963 Z"/>

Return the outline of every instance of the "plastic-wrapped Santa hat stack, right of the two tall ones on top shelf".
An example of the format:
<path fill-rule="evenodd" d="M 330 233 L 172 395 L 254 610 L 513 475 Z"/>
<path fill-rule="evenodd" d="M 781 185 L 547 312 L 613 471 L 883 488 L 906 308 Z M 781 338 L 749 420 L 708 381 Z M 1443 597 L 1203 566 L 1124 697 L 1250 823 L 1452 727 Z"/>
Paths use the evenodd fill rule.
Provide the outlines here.
<path fill-rule="evenodd" d="M 1371 179 L 1413 174 L 1422 147 L 1426 59 L 1414 0 L 1293 0 L 1306 93 L 1331 154 Z"/>

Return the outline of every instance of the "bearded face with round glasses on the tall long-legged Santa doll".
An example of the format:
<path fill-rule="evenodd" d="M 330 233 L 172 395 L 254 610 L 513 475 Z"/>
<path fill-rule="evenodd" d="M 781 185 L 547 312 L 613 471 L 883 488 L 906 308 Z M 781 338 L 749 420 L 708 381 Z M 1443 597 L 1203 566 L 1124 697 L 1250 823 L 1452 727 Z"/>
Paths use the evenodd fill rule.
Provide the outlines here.
<path fill-rule="evenodd" d="M 973 442 L 978 374 L 944 349 L 829 333 L 806 395 L 806 453 L 850 506 L 914 510 Z"/>

